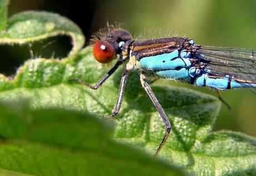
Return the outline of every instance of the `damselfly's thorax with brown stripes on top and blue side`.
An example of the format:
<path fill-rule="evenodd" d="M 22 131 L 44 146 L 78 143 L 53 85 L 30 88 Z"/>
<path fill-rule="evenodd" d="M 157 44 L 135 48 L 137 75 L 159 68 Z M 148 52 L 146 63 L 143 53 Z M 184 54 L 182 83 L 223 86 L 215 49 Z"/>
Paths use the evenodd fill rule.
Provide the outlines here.
<path fill-rule="evenodd" d="M 162 66 L 165 60 L 175 60 L 171 63 L 166 62 L 165 65 L 171 66 L 174 63 L 174 66 L 179 63 L 179 58 L 181 58 L 181 51 L 188 56 L 190 54 L 190 49 L 188 48 L 191 43 L 194 44 L 193 40 L 188 38 L 162 38 L 162 39 L 152 39 L 134 42 L 130 46 L 129 54 L 129 63 L 128 68 L 140 69 L 143 71 L 152 71 L 155 72 L 157 69 L 154 69 L 154 66 L 160 65 L 159 69 L 164 69 Z M 164 59 L 163 59 L 164 58 Z M 185 60 L 182 59 L 182 62 L 185 63 Z M 163 63 L 162 63 L 163 62 Z M 186 66 L 184 64 L 182 66 Z M 181 67 L 179 64 L 176 66 L 178 69 Z M 191 65 L 188 63 L 188 65 Z M 173 68 L 173 69 L 176 69 Z M 167 69 L 167 68 L 166 68 Z"/>

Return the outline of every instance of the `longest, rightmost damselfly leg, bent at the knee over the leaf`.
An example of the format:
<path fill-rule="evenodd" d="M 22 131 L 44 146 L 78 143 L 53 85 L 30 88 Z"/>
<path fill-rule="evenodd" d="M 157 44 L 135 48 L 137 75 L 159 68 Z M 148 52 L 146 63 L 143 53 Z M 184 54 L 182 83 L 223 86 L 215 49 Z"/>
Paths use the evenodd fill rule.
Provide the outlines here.
<path fill-rule="evenodd" d="M 161 141 L 159 147 L 157 148 L 157 151 L 155 153 L 155 156 L 157 156 L 157 154 L 159 154 L 161 148 L 164 146 L 164 144 L 165 144 L 165 142 L 166 142 L 166 140 L 167 140 L 167 138 L 170 134 L 171 123 L 170 123 L 168 117 L 165 115 L 165 112 L 164 112 L 163 108 L 161 107 L 160 103 L 156 99 L 156 96 L 155 96 L 154 92 L 152 91 L 150 85 L 147 84 L 147 82 L 145 80 L 146 80 L 146 76 L 142 73 L 140 75 L 140 81 L 141 81 L 142 87 L 145 89 L 145 91 L 147 92 L 147 95 L 149 95 L 151 101 L 154 103 L 154 105 L 156 107 L 156 110 L 159 112 L 159 114 L 160 114 L 160 116 L 161 116 L 161 118 L 164 122 L 166 131 L 167 131 L 163 140 Z"/>

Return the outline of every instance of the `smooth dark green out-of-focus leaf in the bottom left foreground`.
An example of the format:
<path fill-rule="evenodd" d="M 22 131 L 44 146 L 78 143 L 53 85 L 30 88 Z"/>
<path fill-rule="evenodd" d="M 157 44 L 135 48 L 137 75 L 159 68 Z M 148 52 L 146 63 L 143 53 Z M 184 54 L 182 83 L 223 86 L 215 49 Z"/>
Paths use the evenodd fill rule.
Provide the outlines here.
<path fill-rule="evenodd" d="M 113 142 L 110 124 L 86 113 L 0 103 L 0 175 L 184 175 Z"/>

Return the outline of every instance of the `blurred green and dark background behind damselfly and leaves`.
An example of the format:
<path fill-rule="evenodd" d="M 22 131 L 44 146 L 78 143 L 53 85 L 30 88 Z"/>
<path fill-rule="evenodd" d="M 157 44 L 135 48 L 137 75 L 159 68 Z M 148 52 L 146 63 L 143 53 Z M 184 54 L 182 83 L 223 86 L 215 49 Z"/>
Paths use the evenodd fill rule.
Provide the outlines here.
<path fill-rule="evenodd" d="M 201 45 L 256 49 L 256 1 L 13 0 L 9 6 L 9 15 L 28 9 L 56 12 L 70 18 L 80 26 L 87 39 L 93 32 L 105 27 L 108 21 L 110 24 L 125 23 L 125 28 L 135 36 L 144 34 L 146 30 L 148 34 L 154 31 L 157 37 L 155 31 L 162 31 L 185 35 Z M 55 51 L 55 56 L 61 58 L 71 48 L 70 39 L 65 37 L 49 39 L 46 45 L 34 45 L 37 44 L 29 46 L 39 48 L 33 51 L 34 56 L 46 57 Z M 0 73 L 13 75 L 18 66 L 31 57 L 29 48 L 0 45 Z M 216 96 L 216 92 L 208 88 L 175 81 L 169 81 L 169 84 Z M 222 95 L 232 111 L 221 107 L 214 130 L 228 129 L 256 136 L 256 95 L 245 89 L 228 90 Z"/>

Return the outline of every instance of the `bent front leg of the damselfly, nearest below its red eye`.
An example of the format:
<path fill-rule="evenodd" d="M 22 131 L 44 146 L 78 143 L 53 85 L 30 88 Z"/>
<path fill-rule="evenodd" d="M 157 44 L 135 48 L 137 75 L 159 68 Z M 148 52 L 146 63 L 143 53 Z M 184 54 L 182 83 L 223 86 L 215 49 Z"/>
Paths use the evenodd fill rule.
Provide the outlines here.
<path fill-rule="evenodd" d="M 115 71 L 116 69 L 119 67 L 119 65 L 121 65 L 122 63 L 124 63 L 124 61 L 117 61 L 117 63 L 115 64 L 115 66 L 109 70 L 109 72 L 107 74 L 105 74 L 95 85 L 90 85 L 88 84 L 87 82 L 81 80 L 81 79 L 70 79 L 68 81 L 70 82 L 73 82 L 73 81 L 76 81 L 76 82 L 80 82 L 82 85 L 85 85 L 86 87 L 89 87 L 90 89 L 98 89 Z"/>

